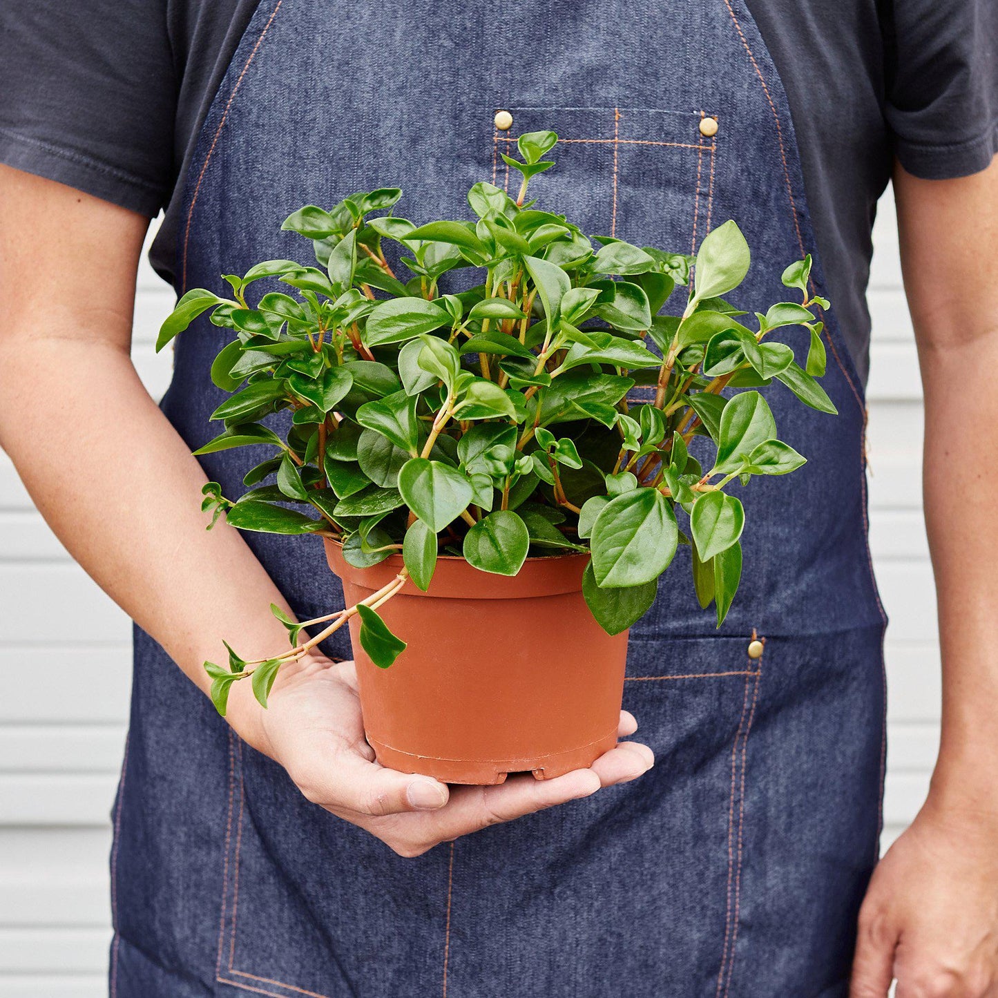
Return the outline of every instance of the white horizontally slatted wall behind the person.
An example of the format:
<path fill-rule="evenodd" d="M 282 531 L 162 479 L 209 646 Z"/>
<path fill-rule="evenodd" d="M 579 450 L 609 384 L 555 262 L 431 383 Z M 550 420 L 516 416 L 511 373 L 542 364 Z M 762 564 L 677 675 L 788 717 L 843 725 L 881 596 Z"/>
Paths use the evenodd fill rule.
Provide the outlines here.
<path fill-rule="evenodd" d="M 939 657 L 921 517 L 921 389 L 889 197 L 875 244 L 870 506 L 876 571 L 891 617 L 889 841 L 926 789 L 938 742 Z M 133 356 L 157 397 L 169 382 L 170 354 L 156 357 L 153 341 L 172 306 L 172 290 L 144 262 Z M 108 814 L 125 740 L 129 641 L 125 615 L 70 560 L 0 453 L 0 994 L 6 998 L 107 993 Z"/>

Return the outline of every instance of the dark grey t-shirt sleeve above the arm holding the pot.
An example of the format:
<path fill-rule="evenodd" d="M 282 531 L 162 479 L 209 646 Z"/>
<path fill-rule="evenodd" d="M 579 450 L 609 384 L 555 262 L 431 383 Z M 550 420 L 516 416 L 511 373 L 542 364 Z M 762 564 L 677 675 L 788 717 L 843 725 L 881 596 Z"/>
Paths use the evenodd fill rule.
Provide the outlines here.
<path fill-rule="evenodd" d="M 2 0 L 0 162 L 155 216 L 176 74 L 157 0 Z"/>

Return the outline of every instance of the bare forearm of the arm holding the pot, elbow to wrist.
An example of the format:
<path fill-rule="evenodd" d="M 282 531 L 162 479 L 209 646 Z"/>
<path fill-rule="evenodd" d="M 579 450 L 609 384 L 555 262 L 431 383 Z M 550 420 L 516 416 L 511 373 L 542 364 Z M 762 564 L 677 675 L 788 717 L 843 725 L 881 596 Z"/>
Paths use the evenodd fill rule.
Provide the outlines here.
<path fill-rule="evenodd" d="M 223 637 L 248 659 L 286 647 L 280 594 L 238 531 L 206 531 L 205 475 L 124 350 L 8 330 L 0 444 L 73 557 L 203 690 Z"/>

